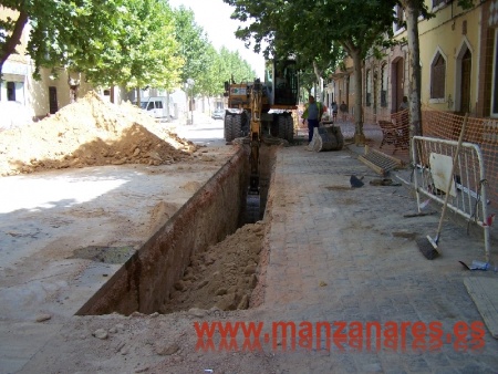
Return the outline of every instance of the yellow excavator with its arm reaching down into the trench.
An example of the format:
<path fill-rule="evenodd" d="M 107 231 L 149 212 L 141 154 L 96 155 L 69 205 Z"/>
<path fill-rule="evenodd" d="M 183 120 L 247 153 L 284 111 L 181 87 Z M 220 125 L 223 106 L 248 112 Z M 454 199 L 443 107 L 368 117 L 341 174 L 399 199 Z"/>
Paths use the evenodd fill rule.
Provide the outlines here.
<path fill-rule="evenodd" d="M 225 113 L 225 139 L 246 137 L 250 144 L 250 175 L 246 199 L 248 221 L 259 220 L 259 148 L 263 135 L 293 142 L 294 117 L 298 108 L 299 74 L 295 61 L 267 63 L 264 82 L 225 82 L 228 100 Z"/>

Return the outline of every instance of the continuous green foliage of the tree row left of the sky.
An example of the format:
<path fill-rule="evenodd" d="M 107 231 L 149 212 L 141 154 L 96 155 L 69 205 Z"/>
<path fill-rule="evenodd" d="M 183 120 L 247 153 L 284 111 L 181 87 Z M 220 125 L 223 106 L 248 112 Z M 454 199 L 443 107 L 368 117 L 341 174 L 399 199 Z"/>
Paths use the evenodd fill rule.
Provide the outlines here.
<path fill-rule="evenodd" d="M 0 73 L 4 61 L 30 34 L 27 54 L 34 76 L 42 67 L 83 73 L 100 86 L 153 86 L 173 90 L 187 79 L 195 91 L 224 92 L 224 82 L 251 79 L 251 66 L 237 52 L 219 52 L 196 24 L 194 12 L 172 10 L 164 0 L 2 0 L 18 17 L 0 20 Z"/>

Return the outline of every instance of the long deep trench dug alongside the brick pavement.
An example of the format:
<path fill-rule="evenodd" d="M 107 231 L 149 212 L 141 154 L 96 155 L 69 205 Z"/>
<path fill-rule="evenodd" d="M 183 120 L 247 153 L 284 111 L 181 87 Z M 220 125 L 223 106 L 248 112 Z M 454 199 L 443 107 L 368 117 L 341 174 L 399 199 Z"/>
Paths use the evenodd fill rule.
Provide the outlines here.
<path fill-rule="evenodd" d="M 261 218 L 270 188 L 271 170 L 277 146 L 262 145 L 260 150 Z M 139 248 L 111 279 L 77 311 L 77 315 L 98 315 L 133 312 L 152 314 L 184 310 L 187 304 L 178 302 L 186 288 L 199 289 L 209 284 L 220 273 L 232 272 L 241 277 L 238 282 L 256 287 L 257 263 L 247 264 L 238 271 L 231 260 L 228 266 L 218 264 L 218 271 L 205 272 L 214 262 L 209 250 L 234 232 L 243 230 L 262 235 L 258 222 L 248 222 L 246 198 L 249 183 L 249 147 L 242 146 L 163 227 Z M 235 236 L 234 236 L 235 237 Z M 234 239 L 232 239 L 234 240 Z M 243 241 L 243 240 L 242 240 Z M 237 251 L 251 252 L 250 261 L 257 262 L 261 248 L 247 247 L 246 242 L 232 243 Z M 240 253 L 227 250 L 226 256 L 239 258 Z M 225 256 L 224 253 L 221 256 Z M 219 261 L 222 263 L 222 261 Z M 200 269 L 200 270 L 199 270 Z M 197 272 L 197 273 L 196 273 Z M 240 273 L 240 274 L 239 274 Z M 203 279 L 201 277 L 205 277 Z M 193 283 L 190 280 L 195 280 Z M 191 283 L 191 284 L 190 284 Z M 212 282 L 214 283 L 214 282 Z M 230 290 L 206 287 L 205 292 L 216 292 L 218 300 L 227 299 Z M 236 294 L 235 292 L 232 292 Z M 237 309 L 246 295 L 225 302 L 226 310 Z M 212 305 L 215 307 L 215 305 Z M 207 308 L 205 305 L 205 308 Z"/>

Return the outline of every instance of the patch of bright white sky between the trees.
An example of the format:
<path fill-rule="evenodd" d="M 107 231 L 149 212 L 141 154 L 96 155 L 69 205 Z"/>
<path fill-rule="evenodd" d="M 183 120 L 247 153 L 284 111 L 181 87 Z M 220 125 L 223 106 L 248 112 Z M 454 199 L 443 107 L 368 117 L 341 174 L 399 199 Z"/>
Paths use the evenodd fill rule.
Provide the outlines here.
<path fill-rule="evenodd" d="M 248 50 L 243 42 L 235 37 L 235 31 L 241 24 L 231 20 L 234 8 L 222 0 L 169 0 L 172 8 L 184 6 L 194 11 L 196 23 L 207 33 L 209 41 L 219 51 L 225 45 L 230 51 L 238 51 L 242 60 L 246 60 L 258 74 L 264 77 L 264 58 L 262 54 Z"/>

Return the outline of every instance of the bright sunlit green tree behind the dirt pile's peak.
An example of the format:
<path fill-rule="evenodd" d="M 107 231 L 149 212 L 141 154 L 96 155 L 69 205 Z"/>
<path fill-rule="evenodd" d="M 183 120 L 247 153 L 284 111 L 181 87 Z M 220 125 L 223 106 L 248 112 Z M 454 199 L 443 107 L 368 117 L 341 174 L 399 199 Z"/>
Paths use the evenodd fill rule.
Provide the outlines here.
<path fill-rule="evenodd" d="M 178 85 L 184 60 L 178 55 L 174 15 L 167 3 L 127 0 L 113 29 L 111 43 L 84 69 L 89 81 L 128 89 L 149 85 L 172 90 Z"/>

